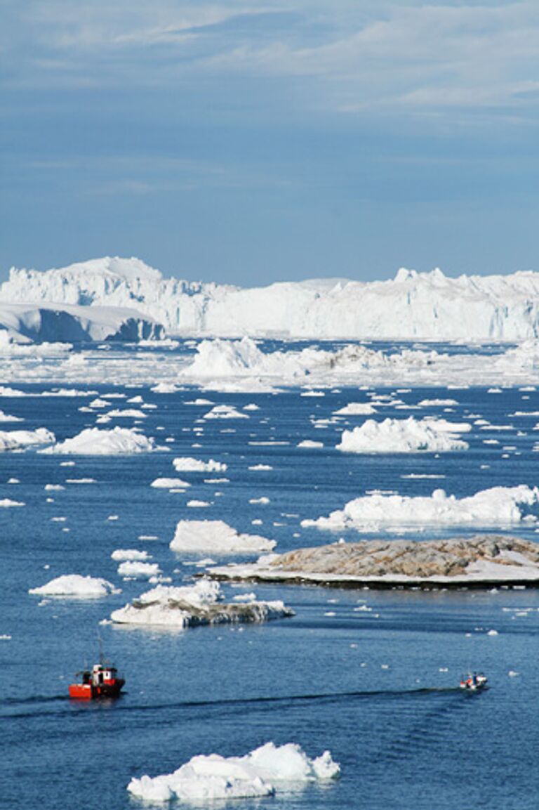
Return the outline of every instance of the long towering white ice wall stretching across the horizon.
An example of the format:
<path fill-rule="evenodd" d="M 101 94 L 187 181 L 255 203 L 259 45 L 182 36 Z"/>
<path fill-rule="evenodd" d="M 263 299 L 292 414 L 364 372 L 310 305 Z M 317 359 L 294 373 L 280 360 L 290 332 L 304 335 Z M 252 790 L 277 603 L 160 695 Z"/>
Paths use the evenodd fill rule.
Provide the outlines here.
<path fill-rule="evenodd" d="M 362 283 L 316 279 L 237 288 L 164 279 L 137 258 L 45 272 L 12 268 L 0 302 L 138 310 L 171 335 L 521 340 L 539 336 L 539 273 L 460 275 L 401 269 Z"/>

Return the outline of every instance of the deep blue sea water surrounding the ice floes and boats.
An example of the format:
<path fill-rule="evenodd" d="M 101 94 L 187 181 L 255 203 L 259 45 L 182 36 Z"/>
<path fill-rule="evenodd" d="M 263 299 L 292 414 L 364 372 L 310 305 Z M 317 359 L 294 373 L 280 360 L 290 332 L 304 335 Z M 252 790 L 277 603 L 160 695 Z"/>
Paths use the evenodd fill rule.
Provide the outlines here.
<path fill-rule="evenodd" d="M 133 353 L 129 347 L 115 352 Z M 4 396 L 0 407 L 25 421 L 2 429 L 46 427 L 62 440 L 95 424 L 99 411 L 79 411 L 93 395 L 38 395 L 53 382 L 17 387 L 31 395 Z M 264 810 L 537 808 L 537 590 L 227 585 L 228 596 L 255 590 L 259 599 L 283 599 L 295 617 L 183 631 L 100 625 L 148 587 L 121 580 L 110 558 L 114 549 L 146 549 L 174 584 L 197 572 L 189 565 L 196 556 L 168 548 L 180 519 L 223 519 L 239 531 L 277 540 L 277 550 L 284 551 L 333 542 L 336 535 L 302 528 L 300 521 L 329 514 L 366 492 L 427 495 L 442 487 L 462 497 L 495 485 L 537 484 L 533 446 L 539 418 L 512 416 L 539 411 L 537 391 L 439 387 L 395 394 L 410 406 L 426 398 L 458 404 L 449 412 L 390 405 L 380 408 L 377 418 L 482 418 L 494 428 L 474 424 L 465 436 L 470 445 L 465 452 L 365 456 L 334 450 L 342 428 L 360 424 L 363 417 L 321 428 L 312 424 L 346 403 L 365 400 L 357 387 L 327 390 L 324 397 L 302 397 L 299 389 L 201 393 L 189 388 L 155 394 L 149 386 L 87 388 L 140 394 L 157 405 L 138 426 L 168 452 L 0 454 L 0 499 L 25 504 L 0 509 L 0 807 L 133 810 L 141 807 L 125 790 L 133 776 L 169 773 L 198 753 L 243 755 L 273 740 L 298 743 L 310 757 L 329 748 L 342 766 L 341 778 L 230 804 Z M 256 403 L 260 410 L 244 411 L 245 420 L 198 421 L 210 406 L 185 405 L 197 396 L 239 409 Z M 112 407 L 140 406 L 117 399 Z M 134 420 L 115 420 L 104 428 L 113 424 L 133 427 Z M 303 439 L 325 446 L 299 449 Z M 215 458 L 228 470 L 178 473 L 193 484 L 185 494 L 151 488 L 155 478 L 176 475 L 172 458 L 178 456 Z M 66 461 L 74 466 L 61 466 Z M 249 470 L 259 463 L 271 469 Z M 443 477 L 405 477 L 410 474 Z M 224 476 L 228 483 L 205 483 Z M 10 479 L 19 483 L 8 484 Z M 94 483 L 66 484 L 67 479 Z M 45 484 L 66 488 L 45 491 Z M 259 497 L 269 503 L 249 503 Z M 189 508 L 191 499 L 210 505 Z M 500 531 L 537 539 L 536 526 L 524 521 Z M 454 533 L 427 527 L 405 536 Z M 358 536 L 346 532 L 346 539 Z M 28 594 L 29 588 L 66 573 L 107 578 L 122 592 L 95 600 Z M 493 629 L 497 635 L 489 635 Z M 125 676 L 125 694 L 89 705 L 70 701 L 67 686 L 74 672 L 99 654 L 98 633 Z M 460 692 L 460 674 L 469 668 L 485 670 L 490 689 Z"/>

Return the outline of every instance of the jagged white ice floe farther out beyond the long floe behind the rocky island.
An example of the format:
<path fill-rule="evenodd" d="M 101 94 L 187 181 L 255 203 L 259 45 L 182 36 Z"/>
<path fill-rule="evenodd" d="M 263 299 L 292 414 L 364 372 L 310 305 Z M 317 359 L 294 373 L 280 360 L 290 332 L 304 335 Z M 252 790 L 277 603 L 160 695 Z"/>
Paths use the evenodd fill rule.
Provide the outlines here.
<path fill-rule="evenodd" d="M 358 428 L 345 430 L 337 450 L 346 453 L 441 453 L 450 450 L 468 450 L 466 441 L 456 438 L 469 424 L 455 424 L 446 420 L 384 419 L 376 422 L 367 419 Z"/>

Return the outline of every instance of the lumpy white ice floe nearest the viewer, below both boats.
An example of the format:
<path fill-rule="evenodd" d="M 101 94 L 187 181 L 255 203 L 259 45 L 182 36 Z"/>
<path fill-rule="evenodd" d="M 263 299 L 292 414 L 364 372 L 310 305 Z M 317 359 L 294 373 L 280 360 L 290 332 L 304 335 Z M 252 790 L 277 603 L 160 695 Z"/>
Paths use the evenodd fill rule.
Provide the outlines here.
<path fill-rule="evenodd" d="M 266 743 L 244 757 L 193 757 L 172 774 L 133 778 L 127 790 L 138 799 L 158 802 L 247 799 L 334 779 L 340 770 L 329 751 L 310 759 L 297 744 Z"/>

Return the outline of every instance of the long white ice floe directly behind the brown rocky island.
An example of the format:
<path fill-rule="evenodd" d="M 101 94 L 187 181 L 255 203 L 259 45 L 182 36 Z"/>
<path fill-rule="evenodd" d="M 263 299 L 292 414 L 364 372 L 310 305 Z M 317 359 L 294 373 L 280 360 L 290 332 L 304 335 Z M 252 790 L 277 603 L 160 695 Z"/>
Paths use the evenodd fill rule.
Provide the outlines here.
<path fill-rule="evenodd" d="M 303 520 L 303 527 L 319 529 L 355 528 L 376 531 L 390 525 L 447 525 L 485 527 L 507 526 L 522 520 L 534 522 L 539 510 L 539 488 L 525 484 L 517 487 L 492 487 L 475 495 L 457 498 L 444 489 L 432 495 L 407 497 L 402 495 L 369 495 L 349 501 L 327 518 Z"/>

